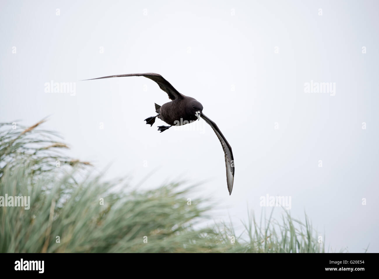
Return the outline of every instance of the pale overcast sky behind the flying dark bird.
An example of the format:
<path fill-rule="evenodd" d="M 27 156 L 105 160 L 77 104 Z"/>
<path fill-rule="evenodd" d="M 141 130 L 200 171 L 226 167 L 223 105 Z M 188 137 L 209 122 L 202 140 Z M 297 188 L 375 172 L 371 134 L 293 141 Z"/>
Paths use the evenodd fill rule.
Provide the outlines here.
<path fill-rule="evenodd" d="M 215 219 L 238 224 L 247 206 L 259 217 L 261 196 L 291 197 L 291 215 L 306 212 L 333 249 L 379 252 L 377 1 L 0 5 L 1 122 L 50 115 L 45 127 L 75 157 L 112 164 L 107 177 L 136 184 L 155 170 L 143 187 L 205 181 L 197 191 L 218 201 Z M 197 99 L 219 126 L 235 159 L 231 196 L 203 120 L 163 133 L 159 119 L 144 124 L 154 102 L 169 101 L 157 84 L 80 81 L 144 72 Z"/>

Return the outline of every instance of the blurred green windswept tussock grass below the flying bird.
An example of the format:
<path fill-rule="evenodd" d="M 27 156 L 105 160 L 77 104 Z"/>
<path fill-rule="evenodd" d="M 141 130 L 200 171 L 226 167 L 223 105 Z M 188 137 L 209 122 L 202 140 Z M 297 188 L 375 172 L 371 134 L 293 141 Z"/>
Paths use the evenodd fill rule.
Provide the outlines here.
<path fill-rule="evenodd" d="M 103 182 L 90 163 L 65 157 L 43 122 L 0 123 L 0 196 L 30 196 L 29 210 L 0 207 L 0 252 L 325 252 L 307 216 L 302 223 L 287 211 L 264 226 L 249 214 L 239 236 L 227 223 L 196 226 L 211 206 L 188 205 L 190 187 Z"/>

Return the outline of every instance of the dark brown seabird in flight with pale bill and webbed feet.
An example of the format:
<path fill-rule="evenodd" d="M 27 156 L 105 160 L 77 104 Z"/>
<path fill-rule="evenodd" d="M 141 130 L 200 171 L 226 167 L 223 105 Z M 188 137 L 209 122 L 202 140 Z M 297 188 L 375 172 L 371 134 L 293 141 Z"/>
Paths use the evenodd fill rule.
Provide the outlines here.
<path fill-rule="evenodd" d="M 218 137 L 222 149 L 225 153 L 225 165 L 226 165 L 226 182 L 228 185 L 229 195 L 232 194 L 233 180 L 234 180 L 234 160 L 232 147 L 230 147 L 224 135 L 222 135 L 220 129 L 217 127 L 216 123 L 211 121 L 203 113 L 203 106 L 197 100 L 192 97 L 180 94 L 174 86 L 172 86 L 167 80 L 165 80 L 161 75 L 155 73 L 146 74 L 126 74 L 126 75 L 110 75 L 108 77 L 91 78 L 89 80 L 97 80 L 101 78 L 111 78 L 111 77 L 147 77 L 150 80 L 156 82 L 160 89 L 168 94 L 171 102 L 164 103 L 163 105 L 155 104 L 155 112 L 158 113 L 156 116 L 151 116 L 145 119 L 146 124 L 150 124 L 150 127 L 154 124 L 155 118 L 159 118 L 169 124 L 169 126 L 158 126 L 158 131 L 163 132 L 172 126 L 180 126 L 191 123 L 200 119 L 205 120 L 215 131 Z"/>

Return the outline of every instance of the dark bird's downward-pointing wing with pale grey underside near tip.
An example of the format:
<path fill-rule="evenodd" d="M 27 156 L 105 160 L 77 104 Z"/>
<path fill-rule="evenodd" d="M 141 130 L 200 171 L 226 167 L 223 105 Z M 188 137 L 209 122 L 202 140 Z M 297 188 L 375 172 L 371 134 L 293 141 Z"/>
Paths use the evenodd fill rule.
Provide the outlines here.
<path fill-rule="evenodd" d="M 207 116 L 204 114 L 201 114 L 201 118 L 205 120 L 215 131 L 216 136 L 220 140 L 220 143 L 222 145 L 222 149 L 225 153 L 225 165 L 226 165 L 226 182 L 228 185 L 229 195 L 232 194 L 233 190 L 233 180 L 234 180 L 234 159 L 233 159 L 233 152 L 232 147 L 230 147 L 229 143 L 227 142 L 224 135 L 222 135 L 220 129 L 218 129 L 215 122 L 211 121 Z"/>

